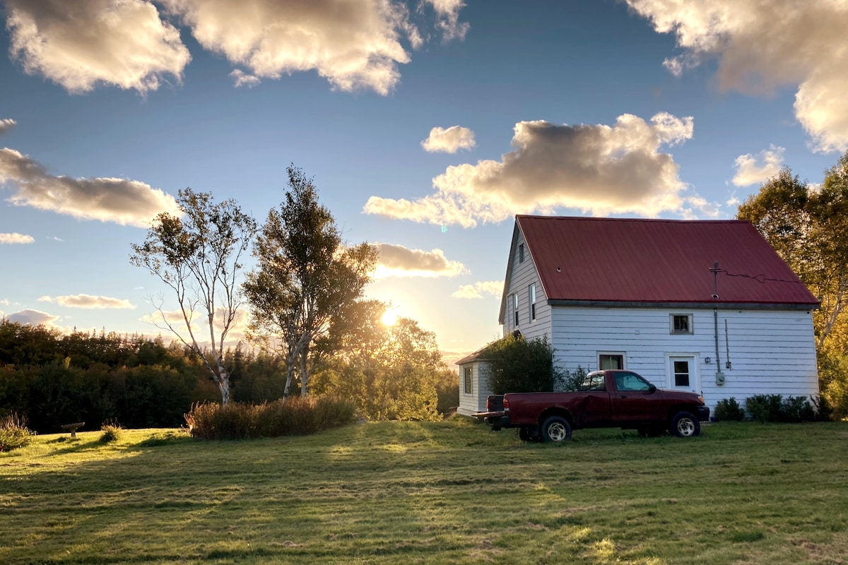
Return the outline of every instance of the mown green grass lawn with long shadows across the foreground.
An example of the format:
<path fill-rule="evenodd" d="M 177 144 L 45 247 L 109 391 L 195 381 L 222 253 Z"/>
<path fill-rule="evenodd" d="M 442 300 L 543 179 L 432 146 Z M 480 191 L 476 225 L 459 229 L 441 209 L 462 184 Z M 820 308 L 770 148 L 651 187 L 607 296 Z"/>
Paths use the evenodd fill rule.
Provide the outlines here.
<path fill-rule="evenodd" d="M 846 423 L 99 435 L 0 453 L 0 562 L 848 563 Z"/>

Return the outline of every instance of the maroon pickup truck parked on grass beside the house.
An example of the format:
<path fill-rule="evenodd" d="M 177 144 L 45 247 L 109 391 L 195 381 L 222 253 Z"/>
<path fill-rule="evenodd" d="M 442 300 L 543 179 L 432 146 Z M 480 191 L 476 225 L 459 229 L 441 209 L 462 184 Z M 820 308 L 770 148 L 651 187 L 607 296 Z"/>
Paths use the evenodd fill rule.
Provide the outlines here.
<path fill-rule="evenodd" d="M 565 441 L 572 429 L 638 429 L 640 434 L 689 437 L 710 417 L 693 392 L 661 391 L 633 371 L 594 371 L 575 392 L 508 392 L 489 396 L 486 412 L 475 413 L 494 431 L 518 428 L 525 441 Z"/>

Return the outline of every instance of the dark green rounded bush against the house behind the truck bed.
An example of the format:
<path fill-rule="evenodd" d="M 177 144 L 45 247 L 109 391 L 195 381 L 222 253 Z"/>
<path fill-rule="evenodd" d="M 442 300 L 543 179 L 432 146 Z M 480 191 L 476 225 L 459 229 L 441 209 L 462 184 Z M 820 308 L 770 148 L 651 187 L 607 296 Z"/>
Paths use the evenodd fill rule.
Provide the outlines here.
<path fill-rule="evenodd" d="M 554 390 L 554 349 L 547 336 L 527 341 L 507 335 L 481 353 L 488 363 L 488 385 L 494 394 Z"/>

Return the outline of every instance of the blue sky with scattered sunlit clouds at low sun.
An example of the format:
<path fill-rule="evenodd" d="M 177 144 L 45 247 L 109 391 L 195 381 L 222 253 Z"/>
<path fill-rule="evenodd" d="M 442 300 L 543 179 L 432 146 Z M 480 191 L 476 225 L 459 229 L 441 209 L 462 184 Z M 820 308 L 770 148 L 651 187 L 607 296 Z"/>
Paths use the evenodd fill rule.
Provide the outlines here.
<path fill-rule="evenodd" d="M 516 214 L 730 219 L 848 149 L 848 0 L 0 0 L 0 317 L 159 335 L 131 265 L 186 187 L 290 164 L 366 296 L 447 360 L 501 335 Z M 245 269 L 252 269 L 248 260 Z M 239 331 L 233 337 L 239 337 Z"/>

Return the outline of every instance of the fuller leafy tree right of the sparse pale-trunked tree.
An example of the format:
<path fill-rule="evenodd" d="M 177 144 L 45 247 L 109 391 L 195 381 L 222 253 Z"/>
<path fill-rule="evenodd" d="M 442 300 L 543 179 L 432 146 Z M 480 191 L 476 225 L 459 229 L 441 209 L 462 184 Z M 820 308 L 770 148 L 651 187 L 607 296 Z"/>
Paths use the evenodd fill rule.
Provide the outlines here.
<path fill-rule="evenodd" d="M 243 285 L 254 336 L 282 343 L 288 396 L 295 373 L 300 394 L 309 390 L 311 348 L 330 335 L 371 280 L 377 251 L 367 243 L 345 246 L 330 211 L 318 203 L 311 179 L 290 165 L 289 190 L 259 233 L 258 268 Z"/>

